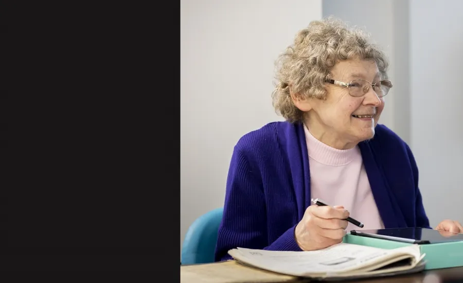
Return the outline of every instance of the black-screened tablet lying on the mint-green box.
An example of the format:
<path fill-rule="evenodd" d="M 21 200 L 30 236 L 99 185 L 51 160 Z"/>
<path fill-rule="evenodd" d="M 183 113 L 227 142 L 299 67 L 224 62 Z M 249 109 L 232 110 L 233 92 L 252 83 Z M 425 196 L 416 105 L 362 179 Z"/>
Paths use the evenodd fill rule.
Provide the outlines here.
<path fill-rule="evenodd" d="M 350 234 L 355 236 L 417 244 L 463 241 L 463 234 L 438 231 L 428 228 L 352 230 L 350 231 Z"/>

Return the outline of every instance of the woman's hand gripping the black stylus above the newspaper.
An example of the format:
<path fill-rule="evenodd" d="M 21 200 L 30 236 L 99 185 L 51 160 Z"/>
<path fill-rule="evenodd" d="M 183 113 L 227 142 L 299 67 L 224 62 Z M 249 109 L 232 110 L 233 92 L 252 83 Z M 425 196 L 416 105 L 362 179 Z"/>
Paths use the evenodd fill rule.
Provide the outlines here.
<path fill-rule="evenodd" d="M 347 217 L 349 212 L 344 206 L 310 205 L 294 232 L 299 248 L 313 251 L 342 242 L 346 235 Z"/>

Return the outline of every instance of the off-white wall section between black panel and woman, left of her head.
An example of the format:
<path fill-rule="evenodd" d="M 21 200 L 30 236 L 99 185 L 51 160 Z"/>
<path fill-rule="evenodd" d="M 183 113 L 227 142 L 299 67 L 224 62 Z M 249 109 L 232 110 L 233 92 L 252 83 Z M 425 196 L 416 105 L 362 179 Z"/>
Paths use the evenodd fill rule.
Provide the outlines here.
<path fill-rule="evenodd" d="M 195 218 L 223 205 L 238 139 L 282 120 L 274 62 L 321 17 L 321 0 L 181 1 L 181 243 Z"/>

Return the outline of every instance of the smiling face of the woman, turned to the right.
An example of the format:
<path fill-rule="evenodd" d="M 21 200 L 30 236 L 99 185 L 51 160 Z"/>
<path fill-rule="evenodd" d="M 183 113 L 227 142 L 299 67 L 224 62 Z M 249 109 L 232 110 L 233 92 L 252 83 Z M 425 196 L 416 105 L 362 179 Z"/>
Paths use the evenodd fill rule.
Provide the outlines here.
<path fill-rule="evenodd" d="M 331 74 L 333 80 L 344 83 L 363 79 L 374 84 L 380 80 L 378 66 L 372 60 L 339 62 Z M 326 100 L 295 101 L 296 106 L 306 112 L 305 123 L 311 134 L 339 149 L 351 148 L 371 139 L 384 108 L 384 99 L 379 98 L 371 86 L 362 97 L 352 97 L 349 88 L 344 86 L 327 83 L 326 87 Z"/>

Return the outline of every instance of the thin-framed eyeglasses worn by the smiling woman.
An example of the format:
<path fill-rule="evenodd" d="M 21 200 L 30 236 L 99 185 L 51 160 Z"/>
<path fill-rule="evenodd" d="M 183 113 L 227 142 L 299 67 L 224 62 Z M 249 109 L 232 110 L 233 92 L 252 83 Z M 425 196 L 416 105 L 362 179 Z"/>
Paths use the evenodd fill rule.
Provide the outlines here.
<path fill-rule="evenodd" d="M 392 83 L 389 80 L 382 80 L 374 84 L 366 80 L 360 80 L 360 79 L 353 80 L 350 83 L 343 83 L 343 82 L 335 81 L 335 80 L 326 80 L 326 82 L 333 84 L 333 85 L 347 87 L 349 89 L 349 95 L 353 97 L 364 96 L 365 93 L 367 93 L 368 90 L 370 89 L 370 86 L 376 92 L 378 97 L 384 97 L 385 95 L 387 95 L 387 92 L 389 92 L 389 89 L 392 87 Z"/>

